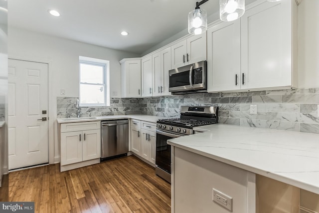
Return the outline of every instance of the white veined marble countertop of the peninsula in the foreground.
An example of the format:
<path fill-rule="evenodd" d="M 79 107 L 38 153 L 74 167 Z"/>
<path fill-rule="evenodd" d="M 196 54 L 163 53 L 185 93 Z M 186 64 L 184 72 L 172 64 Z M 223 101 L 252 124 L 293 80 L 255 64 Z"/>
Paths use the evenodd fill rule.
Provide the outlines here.
<path fill-rule="evenodd" d="M 319 134 L 227 124 L 167 140 L 184 150 L 319 194 Z"/>

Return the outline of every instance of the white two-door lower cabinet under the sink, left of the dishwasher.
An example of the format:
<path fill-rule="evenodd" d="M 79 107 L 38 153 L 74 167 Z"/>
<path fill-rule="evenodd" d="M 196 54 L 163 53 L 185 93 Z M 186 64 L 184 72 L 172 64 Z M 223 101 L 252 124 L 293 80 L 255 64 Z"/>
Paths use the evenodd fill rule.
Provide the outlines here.
<path fill-rule="evenodd" d="M 101 122 L 61 124 L 61 172 L 100 162 Z"/>

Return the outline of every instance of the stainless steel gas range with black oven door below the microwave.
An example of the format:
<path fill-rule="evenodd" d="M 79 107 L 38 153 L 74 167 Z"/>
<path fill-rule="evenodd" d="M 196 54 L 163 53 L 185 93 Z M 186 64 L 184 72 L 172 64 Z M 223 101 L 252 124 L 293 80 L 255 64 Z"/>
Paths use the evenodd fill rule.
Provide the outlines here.
<path fill-rule="evenodd" d="M 161 119 L 156 128 L 156 174 L 170 183 L 170 145 L 168 139 L 194 134 L 194 127 L 216 124 L 217 107 L 181 106 L 180 118 Z"/>

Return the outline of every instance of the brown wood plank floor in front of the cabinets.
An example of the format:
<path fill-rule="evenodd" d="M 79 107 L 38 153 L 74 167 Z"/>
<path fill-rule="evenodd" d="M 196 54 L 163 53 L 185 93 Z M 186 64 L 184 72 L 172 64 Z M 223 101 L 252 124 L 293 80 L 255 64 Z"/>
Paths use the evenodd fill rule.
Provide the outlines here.
<path fill-rule="evenodd" d="M 39 213 L 170 212 L 170 185 L 134 156 L 60 173 L 49 165 L 9 173 L 9 201 Z"/>

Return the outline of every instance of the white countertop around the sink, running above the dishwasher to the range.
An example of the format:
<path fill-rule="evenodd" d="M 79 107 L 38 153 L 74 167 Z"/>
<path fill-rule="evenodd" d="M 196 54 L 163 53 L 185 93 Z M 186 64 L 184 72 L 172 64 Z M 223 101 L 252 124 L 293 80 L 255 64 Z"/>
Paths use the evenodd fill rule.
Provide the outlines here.
<path fill-rule="evenodd" d="M 94 119 L 79 119 L 79 120 L 63 120 L 63 118 L 58 118 L 57 122 L 59 124 L 62 123 L 74 123 L 74 122 L 87 122 L 87 121 L 104 121 L 104 120 L 116 120 L 116 119 L 137 119 L 147 122 L 157 122 L 159 119 L 163 119 L 163 117 L 152 116 L 152 115 L 108 115 L 108 116 L 98 116 Z"/>

